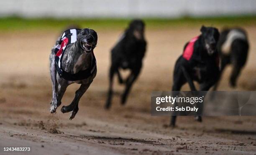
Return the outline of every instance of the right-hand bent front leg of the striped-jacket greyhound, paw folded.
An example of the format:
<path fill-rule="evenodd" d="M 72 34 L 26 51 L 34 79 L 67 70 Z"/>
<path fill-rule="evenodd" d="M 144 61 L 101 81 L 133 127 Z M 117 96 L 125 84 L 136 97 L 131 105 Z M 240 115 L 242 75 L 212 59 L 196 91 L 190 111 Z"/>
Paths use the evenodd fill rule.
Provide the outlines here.
<path fill-rule="evenodd" d="M 89 84 L 82 84 L 79 87 L 79 89 L 76 91 L 74 100 L 70 103 L 70 105 L 63 106 L 61 108 L 61 112 L 63 112 L 63 113 L 72 111 L 70 120 L 72 120 L 75 117 L 75 115 L 77 114 L 78 102 L 79 102 L 80 98 L 82 97 L 82 95 L 84 95 L 84 92 L 86 92 L 86 90 L 89 88 L 90 84 L 91 84 L 91 82 Z"/>

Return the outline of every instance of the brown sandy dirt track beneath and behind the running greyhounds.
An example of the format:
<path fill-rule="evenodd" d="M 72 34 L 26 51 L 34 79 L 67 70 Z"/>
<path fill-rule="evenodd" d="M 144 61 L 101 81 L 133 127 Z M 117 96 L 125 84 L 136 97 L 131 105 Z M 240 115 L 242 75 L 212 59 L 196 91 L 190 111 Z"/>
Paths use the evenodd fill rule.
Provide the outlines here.
<path fill-rule="evenodd" d="M 225 70 L 219 90 L 256 90 L 256 27 L 246 27 L 251 49 L 238 87 L 228 85 Z M 115 82 L 113 105 L 105 110 L 110 48 L 121 31 L 98 30 L 97 76 L 79 103 L 73 120 L 60 107 L 50 114 L 49 53 L 59 32 L 1 32 L 0 155 L 3 147 L 31 147 L 31 154 L 256 154 L 256 117 L 169 117 L 150 114 L 151 91 L 170 90 L 172 72 L 184 43 L 198 28 L 147 30 L 144 66 L 125 106 L 123 86 Z M 127 72 L 122 72 L 127 75 Z M 68 105 L 79 85 L 70 85 L 62 100 Z M 185 85 L 183 90 L 187 90 Z M 61 106 L 62 106 L 61 105 Z M 26 152 L 27 153 L 27 152 Z M 15 153 L 13 153 L 15 154 Z"/>

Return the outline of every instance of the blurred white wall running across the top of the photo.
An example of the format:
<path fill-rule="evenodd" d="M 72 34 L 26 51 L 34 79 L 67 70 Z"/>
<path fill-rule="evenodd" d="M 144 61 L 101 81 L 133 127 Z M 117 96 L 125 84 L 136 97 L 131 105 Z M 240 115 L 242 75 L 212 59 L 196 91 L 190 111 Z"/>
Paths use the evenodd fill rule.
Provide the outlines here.
<path fill-rule="evenodd" d="M 256 0 L 0 0 L 0 16 L 155 17 L 256 14 Z"/>

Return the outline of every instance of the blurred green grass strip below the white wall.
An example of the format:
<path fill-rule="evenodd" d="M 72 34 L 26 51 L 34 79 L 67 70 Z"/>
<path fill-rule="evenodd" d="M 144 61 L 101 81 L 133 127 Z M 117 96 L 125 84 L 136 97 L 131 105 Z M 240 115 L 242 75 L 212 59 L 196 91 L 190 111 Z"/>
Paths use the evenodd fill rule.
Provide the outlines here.
<path fill-rule="evenodd" d="M 0 31 L 13 30 L 61 30 L 67 25 L 79 25 L 82 28 L 94 29 L 117 29 L 123 30 L 131 19 L 61 19 L 54 18 L 0 18 Z M 256 24 L 256 16 L 234 16 L 234 17 L 205 17 L 205 18 L 175 18 L 175 19 L 143 19 L 148 29 L 164 29 L 170 27 L 196 27 L 202 24 L 207 26 L 250 26 Z"/>

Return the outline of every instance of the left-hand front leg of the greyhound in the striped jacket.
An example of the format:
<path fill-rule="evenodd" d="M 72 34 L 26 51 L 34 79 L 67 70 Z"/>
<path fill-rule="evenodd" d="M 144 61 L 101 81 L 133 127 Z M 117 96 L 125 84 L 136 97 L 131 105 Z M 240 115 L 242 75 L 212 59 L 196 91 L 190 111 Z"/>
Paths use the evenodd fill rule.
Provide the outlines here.
<path fill-rule="evenodd" d="M 58 90 L 56 93 L 56 98 L 51 102 L 50 112 L 54 113 L 56 112 L 57 107 L 61 104 L 61 99 L 67 90 L 67 82 L 60 82 L 58 85 Z"/>

